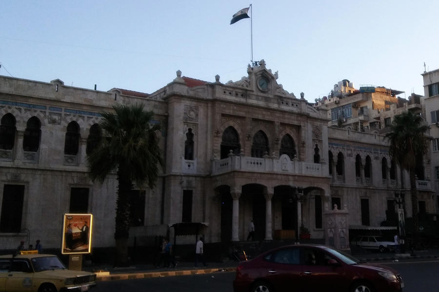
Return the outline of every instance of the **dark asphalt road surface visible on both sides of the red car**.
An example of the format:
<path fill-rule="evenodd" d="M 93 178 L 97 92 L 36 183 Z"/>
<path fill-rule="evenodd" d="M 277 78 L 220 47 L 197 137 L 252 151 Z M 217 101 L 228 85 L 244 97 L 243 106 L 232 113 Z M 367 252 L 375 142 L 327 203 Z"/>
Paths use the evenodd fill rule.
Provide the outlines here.
<path fill-rule="evenodd" d="M 439 291 L 439 261 L 381 262 L 402 275 L 404 292 Z M 233 292 L 235 272 L 98 282 L 92 292 Z"/>

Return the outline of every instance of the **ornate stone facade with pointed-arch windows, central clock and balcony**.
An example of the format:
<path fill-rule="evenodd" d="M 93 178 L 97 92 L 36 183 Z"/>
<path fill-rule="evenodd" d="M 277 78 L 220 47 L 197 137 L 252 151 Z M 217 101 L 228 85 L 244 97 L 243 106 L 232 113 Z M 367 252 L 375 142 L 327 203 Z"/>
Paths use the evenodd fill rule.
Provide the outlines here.
<path fill-rule="evenodd" d="M 131 244 L 173 237 L 180 222 L 205 226 L 206 242 L 243 241 L 251 220 L 255 240 L 295 238 L 302 223 L 323 239 L 323 214 L 334 204 L 347 224 L 379 226 L 408 188 L 383 136 L 328 127 L 327 105 L 285 91 L 277 77 L 261 60 L 237 82 L 178 71 L 146 94 L 1 76 L 0 247 L 38 237 L 57 248 L 62 214 L 74 212 L 94 215 L 93 247 L 114 246 L 116 176 L 91 182 L 86 155 L 101 135 L 100 112 L 116 104 L 155 112 L 165 162 L 154 189 L 135 186 Z M 419 185 L 431 190 L 427 180 Z"/>

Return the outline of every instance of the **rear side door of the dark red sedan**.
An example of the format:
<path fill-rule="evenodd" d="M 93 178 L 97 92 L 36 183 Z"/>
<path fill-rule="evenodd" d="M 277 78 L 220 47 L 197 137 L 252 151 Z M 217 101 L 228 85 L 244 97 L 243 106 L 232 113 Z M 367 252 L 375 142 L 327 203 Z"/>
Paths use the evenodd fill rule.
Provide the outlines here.
<path fill-rule="evenodd" d="M 276 292 L 302 291 L 299 248 L 277 250 L 265 256 L 264 261 L 260 276 L 270 282 Z"/>

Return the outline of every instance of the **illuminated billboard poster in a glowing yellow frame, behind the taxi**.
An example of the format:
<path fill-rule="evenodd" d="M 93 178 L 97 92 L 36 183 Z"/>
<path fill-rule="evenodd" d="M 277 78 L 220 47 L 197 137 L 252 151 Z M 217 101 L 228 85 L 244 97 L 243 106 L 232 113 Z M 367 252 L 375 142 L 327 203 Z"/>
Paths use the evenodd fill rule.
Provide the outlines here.
<path fill-rule="evenodd" d="M 89 254 L 92 223 L 92 214 L 64 214 L 61 254 Z"/>

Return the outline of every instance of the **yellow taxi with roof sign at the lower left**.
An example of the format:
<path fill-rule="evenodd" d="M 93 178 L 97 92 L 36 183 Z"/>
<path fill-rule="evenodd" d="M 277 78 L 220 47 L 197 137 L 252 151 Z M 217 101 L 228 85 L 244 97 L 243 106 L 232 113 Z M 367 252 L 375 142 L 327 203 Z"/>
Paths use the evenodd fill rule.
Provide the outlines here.
<path fill-rule="evenodd" d="M 0 292 L 84 292 L 96 286 L 96 274 L 67 270 L 58 256 L 0 256 Z"/>

